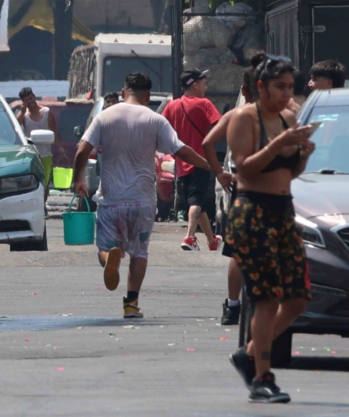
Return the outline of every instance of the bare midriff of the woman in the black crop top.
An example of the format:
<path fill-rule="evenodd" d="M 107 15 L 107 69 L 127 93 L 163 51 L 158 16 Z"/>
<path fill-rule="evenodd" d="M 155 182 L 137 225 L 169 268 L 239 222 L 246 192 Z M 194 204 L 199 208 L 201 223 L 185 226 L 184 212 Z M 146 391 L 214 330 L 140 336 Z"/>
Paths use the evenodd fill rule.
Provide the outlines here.
<path fill-rule="evenodd" d="M 292 174 L 287 168 L 256 175 L 255 179 L 238 176 L 237 189 L 276 195 L 291 194 Z"/>

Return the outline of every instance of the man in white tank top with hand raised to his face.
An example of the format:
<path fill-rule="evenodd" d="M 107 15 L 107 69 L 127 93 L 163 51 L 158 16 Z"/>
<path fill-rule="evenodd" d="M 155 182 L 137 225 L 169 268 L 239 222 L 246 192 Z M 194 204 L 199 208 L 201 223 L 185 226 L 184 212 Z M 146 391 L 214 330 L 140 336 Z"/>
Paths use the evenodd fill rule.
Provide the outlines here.
<path fill-rule="evenodd" d="M 23 106 L 21 111 L 17 114 L 17 120 L 23 126 L 26 138 L 31 137 L 31 131 L 36 129 L 48 129 L 55 133 L 55 142 L 58 145 L 58 151 L 62 156 L 65 156 L 65 149 L 62 147 L 62 140 L 58 133 L 55 119 L 48 107 L 39 106 L 33 90 L 29 87 L 22 88 L 19 92 L 19 97 L 22 99 Z M 45 169 L 45 203 L 49 196 L 49 181 L 52 172 L 52 152 L 51 145 L 37 145 L 37 152 L 39 152 L 42 165 Z M 46 208 L 45 208 L 46 211 Z"/>

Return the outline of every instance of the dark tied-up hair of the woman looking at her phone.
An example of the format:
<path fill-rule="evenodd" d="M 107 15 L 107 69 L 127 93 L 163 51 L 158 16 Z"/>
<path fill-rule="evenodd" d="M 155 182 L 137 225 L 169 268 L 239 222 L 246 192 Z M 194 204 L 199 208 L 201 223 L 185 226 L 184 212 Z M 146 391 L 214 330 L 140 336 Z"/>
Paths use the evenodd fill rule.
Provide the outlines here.
<path fill-rule="evenodd" d="M 260 56 L 262 57 L 262 52 Z M 269 81 L 277 80 L 283 74 L 292 74 L 294 76 L 296 68 L 293 67 L 288 58 L 269 56 L 264 53 L 262 63 L 259 63 L 255 69 L 255 88 L 257 89 L 257 82 L 263 81 L 264 86 L 267 87 Z"/>

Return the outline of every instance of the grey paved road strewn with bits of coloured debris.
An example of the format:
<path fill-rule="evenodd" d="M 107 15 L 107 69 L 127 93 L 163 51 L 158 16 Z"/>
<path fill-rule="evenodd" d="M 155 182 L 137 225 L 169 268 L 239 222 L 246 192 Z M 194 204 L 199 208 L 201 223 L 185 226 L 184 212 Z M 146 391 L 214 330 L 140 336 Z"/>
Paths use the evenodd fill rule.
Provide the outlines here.
<path fill-rule="evenodd" d="M 0 416 L 348 417 L 348 341 L 296 335 L 275 373 L 293 402 L 248 404 L 228 361 L 237 327 L 220 326 L 226 259 L 180 252 L 183 229 L 158 224 L 140 304 L 121 318 L 94 247 L 66 247 L 49 220 L 49 252 L 0 247 Z"/>

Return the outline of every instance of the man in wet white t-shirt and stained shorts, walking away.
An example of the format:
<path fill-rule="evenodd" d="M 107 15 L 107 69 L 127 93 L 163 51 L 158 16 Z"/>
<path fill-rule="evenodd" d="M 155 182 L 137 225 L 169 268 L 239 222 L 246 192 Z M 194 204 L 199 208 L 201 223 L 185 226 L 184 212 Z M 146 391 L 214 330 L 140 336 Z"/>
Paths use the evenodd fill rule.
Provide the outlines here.
<path fill-rule="evenodd" d="M 128 75 L 122 90 L 124 102 L 95 117 L 82 138 L 74 164 L 75 193 L 87 195 L 83 172 L 92 149 L 101 146 L 101 183 L 93 197 L 98 204 L 96 244 L 105 286 L 110 291 L 119 284 L 121 258 L 125 253 L 130 255 L 124 318 L 143 317 L 138 297 L 155 219 L 155 151 L 210 169 L 204 158 L 178 140 L 162 115 L 147 107 L 151 87 L 146 74 Z"/>

